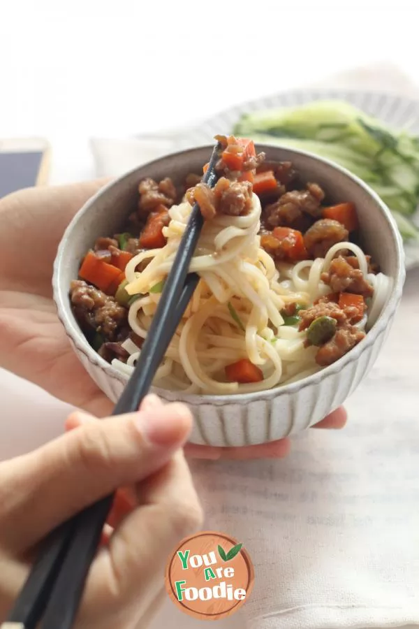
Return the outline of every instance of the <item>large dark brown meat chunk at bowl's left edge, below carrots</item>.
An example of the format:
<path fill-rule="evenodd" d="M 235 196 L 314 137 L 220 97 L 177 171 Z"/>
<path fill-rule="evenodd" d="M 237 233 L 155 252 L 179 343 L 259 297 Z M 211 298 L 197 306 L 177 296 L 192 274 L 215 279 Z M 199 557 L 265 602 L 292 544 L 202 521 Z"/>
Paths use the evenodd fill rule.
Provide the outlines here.
<path fill-rule="evenodd" d="M 83 329 L 94 328 L 106 341 L 113 341 L 126 325 L 128 311 L 113 297 L 105 295 L 82 280 L 74 280 L 70 287 L 73 312 Z"/>

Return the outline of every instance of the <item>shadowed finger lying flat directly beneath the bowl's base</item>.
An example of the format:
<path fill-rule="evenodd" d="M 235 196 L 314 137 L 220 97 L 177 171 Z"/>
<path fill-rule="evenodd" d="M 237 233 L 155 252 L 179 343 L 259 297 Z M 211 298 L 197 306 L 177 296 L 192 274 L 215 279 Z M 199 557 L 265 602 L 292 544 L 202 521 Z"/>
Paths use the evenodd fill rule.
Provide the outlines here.
<path fill-rule="evenodd" d="M 189 443 L 185 446 L 185 454 L 191 458 L 207 458 L 213 461 L 226 458 L 247 461 L 252 458 L 284 458 L 288 456 L 290 449 L 291 441 L 286 438 L 240 448 L 219 448 Z"/>

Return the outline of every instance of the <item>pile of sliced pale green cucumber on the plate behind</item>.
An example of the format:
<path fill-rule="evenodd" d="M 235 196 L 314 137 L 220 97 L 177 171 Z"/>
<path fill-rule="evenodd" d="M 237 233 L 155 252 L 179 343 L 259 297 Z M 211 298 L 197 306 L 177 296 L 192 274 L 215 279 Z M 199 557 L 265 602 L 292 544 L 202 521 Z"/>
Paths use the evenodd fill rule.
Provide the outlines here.
<path fill-rule="evenodd" d="M 233 133 L 335 161 L 381 196 L 404 240 L 419 238 L 411 219 L 419 201 L 419 138 L 341 101 L 249 113 Z"/>

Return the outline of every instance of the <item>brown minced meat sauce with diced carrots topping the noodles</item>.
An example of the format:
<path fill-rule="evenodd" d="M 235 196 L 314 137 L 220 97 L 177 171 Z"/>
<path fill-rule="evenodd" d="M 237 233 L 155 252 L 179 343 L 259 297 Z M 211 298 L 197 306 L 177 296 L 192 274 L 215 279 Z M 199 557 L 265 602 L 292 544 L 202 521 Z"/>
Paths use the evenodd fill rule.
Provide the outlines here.
<path fill-rule="evenodd" d="M 219 178 L 213 188 L 203 183 L 197 173 L 189 173 L 179 187 L 169 177 L 159 182 L 145 178 L 138 185 L 138 207 L 128 217 L 126 232 L 99 237 L 91 254 L 113 264 L 144 250 L 163 247 L 166 238 L 162 230 L 169 223 L 168 212 L 183 198 L 191 204 L 197 202 L 205 220 L 218 214 L 247 215 L 251 210 L 252 191 L 258 194 L 262 207 L 260 246 L 275 263 L 324 257 L 333 245 L 356 236 L 355 209 L 343 207 L 351 203 L 335 206 L 335 211 L 326 203 L 322 187 L 316 182 L 301 182 L 291 162 L 267 162 L 265 154 L 256 154 L 253 143 L 253 150 L 249 150 L 244 140 L 236 140 L 233 136 L 217 136 L 216 139 L 221 144 L 221 153 L 216 163 Z M 376 273 L 378 269 L 369 256 L 367 261 L 369 272 Z M 147 263 L 147 260 L 143 261 L 137 270 L 144 270 Z M 332 293 L 329 296 L 319 299 L 310 308 L 300 308 L 298 312 L 295 304 L 288 304 L 282 314 L 296 317 L 300 331 L 308 331 L 316 321 L 330 324 L 332 320 L 330 338 L 318 345 L 316 353 L 316 362 L 326 366 L 346 354 L 365 336 L 355 326 L 362 319 L 364 310 L 350 303 L 339 305 L 339 295 L 347 293 L 368 298 L 373 289 L 362 275 L 358 259 L 342 250 L 321 279 L 330 286 Z M 117 358 L 126 362 L 128 352 L 122 343 L 127 338 L 131 338 L 137 347 L 142 345 L 142 338 L 128 326 L 129 303 L 121 303 L 117 286 L 111 290 L 75 280 L 71 283 L 70 296 L 80 327 L 106 361 Z M 367 308 L 365 304 L 364 308 Z M 307 336 L 306 345 L 310 344 Z"/>

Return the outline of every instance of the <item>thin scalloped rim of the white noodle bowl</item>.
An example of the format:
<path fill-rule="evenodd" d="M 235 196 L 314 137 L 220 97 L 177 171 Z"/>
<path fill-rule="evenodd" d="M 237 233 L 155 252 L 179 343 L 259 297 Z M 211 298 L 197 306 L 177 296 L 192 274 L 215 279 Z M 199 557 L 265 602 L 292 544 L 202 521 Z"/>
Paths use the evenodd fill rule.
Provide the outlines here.
<path fill-rule="evenodd" d="M 358 361 L 361 354 L 363 354 L 365 350 L 367 350 L 371 345 L 374 344 L 374 341 L 376 340 L 377 336 L 381 333 L 381 331 L 383 331 L 383 328 L 385 328 L 388 325 L 388 321 L 390 320 L 390 317 L 392 316 L 392 314 L 395 312 L 395 309 L 397 308 L 397 304 L 399 303 L 399 299 L 401 297 L 402 289 L 404 285 L 404 279 L 406 276 L 406 270 L 404 267 L 404 247 L 402 244 L 402 238 L 399 234 L 399 231 L 395 223 L 395 219 L 393 219 L 390 210 L 388 209 L 387 205 L 385 205 L 385 203 L 381 200 L 378 194 L 376 194 L 376 192 L 372 188 L 370 188 L 369 185 L 367 185 L 360 178 L 358 178 L 358 176 L 353 175 L 353 173 L 348 171 L 346 168 L 343 168 L 342 166 L 335 164 L 329 159 L 318 157 L 317 155 L 312 154 L 307 151 L 294 150 L 288 147 L 281 147 L 280 145 L 277 145 L 277 144 L 270 145 L 267 143 L 256 143 L 256 147 L 258 148 L 258 150 L 269 149 L 269 150 L 279 150 L 282 152 L 282 154 L 288 153 L 289 161 L 293 161 L 293 155 L 295 156 L 297 154 L 297 155 L 301 155 L 302 157 L 307 157 L 311 160 L 321 162 L 321 164 L 324 164 L 325 166 L 330 168 L 332 171 L 333 170 L 338 171 L 339 173 L 346 176 L 346 178 L 351 180 L 353 184 L 358 185 L 358 187 L 362 188 L 367 193 L 367 195 L 372 197 L 372 199 L 378 206 L 379 211 L 381 212 L 381 215 L 383 215 L 383 217 L 385 218 L 388 224 L 390 233 L 392 234 L 393 243 L 395 245 L 396 269 L 395 269 L 395 277 L 392 278 L 392 287 L 390 289 L 390 296 L 388 297 L 387 303 L 385 304 L 383 310 L 381 311 L 378 319 L 372 326 L 372 329 L 367 333 L 365 338 L 362 339 L 360 343 L 358 343 L 358 345 L 353 347 L 353 349 L 351 349 L 350 352 L 342 356 L 335 363 L 332 363 L 332 365 L 327 366 L 319 370 L 318 372 L 312 375 L 309 375 L 301 380 L 297 380 L 296 382 L 292 382 L 291 384 L 279 384 L 278 386 L 275 386 L 272 389 L 265 389 L 263 391 L 254 391 L 253 393 L 230 393 L 228 395 L 215 395 L 215 394 L 207 395 L 204 393 L 184 394 L 182 393 L 182 391 L 172 391 L 170 389 L 161 389 L 157 386 L 152 386 L 151 388 L 152 391 L 157 393 L 159 396 L 162 396 L 163 398 L 166 398 L 166 399 L 172 398 L 173 400 L 182 401 L 191 406 L 198 406 L 198 405 L 226 406 L 228 404 L 244 405 L 251 402 L 256 402 L 258 400 L 267 400 L 269 398 L 276 398 L 279 396 L 291 395 L 293 393 L 296 393 L 297 391 L 300 391 L 301 389 L 307 388 L 308 386 L 316 386 L 317 384 L 319 384 L 319 382 L 321 382 L 321 380 L 328 377 L 332 377 L 333 375 L 336 375 L 337 373 L 341 372 L 349 363 Z M 73 219 L 71 219 L 71 222 L 66 227 L 66 230 L 64 231 L 64 234 L 57 248 L 57 254 L 54 259 L 54 266 L 53 266 L 52 291 L 53 291 L 54 303 L 57 308 L 57 316 L 59 320 L 61 321 L 61 324 L 64 326 L 66 335 L 71 340 L 75 349 L 77 349 L 78 352 L 81 352 L 92 365 L 100 368 L 102 371 L 105 372 L 106 375 L 108 375 L 112 379 L 119 380 L 119 382 L 122 382 L 124 386 L 126 385 L 126 382 L 128 382 L 129 376 L 122 374 L 117 369 L 112 367 L 110 363 L 105 361 L 105 359 L 99 356 L 96 350 L 94 350 L 93 347 L 89 345 L 89 342 L 87 342 L 87 339 L 85 338 L 81 329 L 78 327 L 77 323 L 74 324 L 74 322 L 71 319 L 71 316 L 69 316 L 71 314 L 70 302 L 69 300 L 65 301 L 65 297 L 64 297 L 64 296 L 67 296 L 67 299 L 68 299 L 68 291 L 67 289 L 63 291 L 62 284 L 60 281 L 61 269 L 63 268 L 63 265 L 64 265 L 64 250 L 66 249 L 66 246 L 68 245 L 68 240 L 69 238 L 71 238 L 73 229 L 78 224 L 80 219 L 82 219 L 82 217 L 87 212 L 89 212 L 90 208 L 96 203 L 97 199 L 100 198 L 102 195 L 106 194 L 108 190 L 119 185 L 125 179 L 130 178 L 131 175 L 133 175 L 137 171 L 140 171 L 142 168 L 152 168 L 154 164 L 159 164 L 161 161 L 170 159 L 170 158 L 175 159 L 179 155 L 193 154 L 193 153 L 203 152 L 205 150 L 207 150 L 208 154 L 210 154 L 210 152 L 212 151 L 212 148 L 213 148 L 213 145 L 199 145 L 197 147 L 191 147 L 184 150 L 177 150 L 175 152 L 170 152 L 170 153 L 164 154 L 161 157 L 153 159 L 152 161 L 147 161 L 145 162 L 145 164 L 141 164 L 140 166 L 135 166 L 135 168 L 131 168 L 131 170 L 124 173 L 124 175 L 120 175 L 114 180 L 111 180 L 110 182 L 105 184 L 103 187 L 101 187 L 101 189 L 99 189 L 93 196 L 91 196 L 91 198 L 89 198 L 87 202 L 84 203 L 82 208 L 80 208 L 80 210 L 76 212 Z"/>

